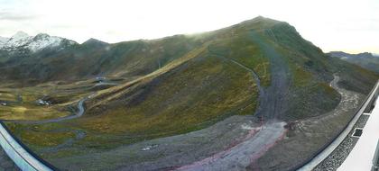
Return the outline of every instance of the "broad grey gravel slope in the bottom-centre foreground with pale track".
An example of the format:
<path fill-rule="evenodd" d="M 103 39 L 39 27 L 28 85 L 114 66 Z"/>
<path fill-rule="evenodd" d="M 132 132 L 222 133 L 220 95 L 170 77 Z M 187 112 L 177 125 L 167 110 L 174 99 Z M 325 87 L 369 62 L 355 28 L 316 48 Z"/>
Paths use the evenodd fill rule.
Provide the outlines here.
<path fill-rule="evenodd" d="M 86 155 L 51 158 L 49 162 L 68 170 L 187 170 L 198 166 L 240 170 L 282 139 L 286 131 L 284 122 L 262 125 L 256 120 L 253 116 L 232 116 L 203 130 L 103 152 L 88 150 Z"/>

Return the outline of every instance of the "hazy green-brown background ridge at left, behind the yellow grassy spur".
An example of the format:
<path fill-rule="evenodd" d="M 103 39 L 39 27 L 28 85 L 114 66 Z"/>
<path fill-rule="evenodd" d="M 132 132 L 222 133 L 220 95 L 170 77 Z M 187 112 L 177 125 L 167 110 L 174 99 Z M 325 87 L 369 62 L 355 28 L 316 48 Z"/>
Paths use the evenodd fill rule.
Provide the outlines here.
<path fill-rule="evenodd" d="M 199 45 L 201 42 L 179 35 L 116 44 L 84 43 L 36 54 L 0 54 L 0 58 L 7 58 L 0 62 L 0 77 L 25 86 L 51 80 L 73 82 L 95 76 L 144 76 Z"/>

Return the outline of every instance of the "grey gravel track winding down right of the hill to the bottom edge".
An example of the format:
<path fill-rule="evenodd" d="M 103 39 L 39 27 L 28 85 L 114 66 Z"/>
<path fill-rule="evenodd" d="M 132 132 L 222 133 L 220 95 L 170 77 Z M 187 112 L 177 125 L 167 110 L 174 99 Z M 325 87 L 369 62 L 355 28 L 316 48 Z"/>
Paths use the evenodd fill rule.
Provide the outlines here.
<path fill-rule="evenodd" d="M 365 95 L 348 91 L 337 86 L 338 76 L 331 86 L 341 94 L 337 107 L 325 114 L 289 123 L 286 137 L 270 148 L 251 170 L 293 170 L 303 166 L 319 149 L 329 143 L 356 114 Z"/>

